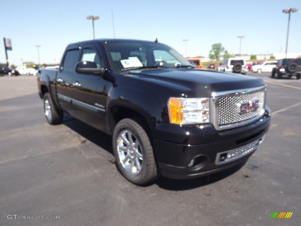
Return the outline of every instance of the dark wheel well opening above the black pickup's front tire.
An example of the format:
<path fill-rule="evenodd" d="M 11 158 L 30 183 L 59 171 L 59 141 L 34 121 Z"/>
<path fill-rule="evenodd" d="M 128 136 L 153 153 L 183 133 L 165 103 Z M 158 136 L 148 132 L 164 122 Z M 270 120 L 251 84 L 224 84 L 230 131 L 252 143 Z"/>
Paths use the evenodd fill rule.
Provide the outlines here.
<path fill-rule="evenodd" d="M 138 119 L 138 123 L 144 128 L 144 130 L 146 130 L 146 132 L 149 132 L 148 123 L 140 113 L 138 113 L 133 109 L 126 108 L 123 106 L 113 106 L 110 109 L 110 115 L 109 115 L 109 127 L 110 127 L 111 134 L 113 134 L 116 124 L 124 118 Z"/>

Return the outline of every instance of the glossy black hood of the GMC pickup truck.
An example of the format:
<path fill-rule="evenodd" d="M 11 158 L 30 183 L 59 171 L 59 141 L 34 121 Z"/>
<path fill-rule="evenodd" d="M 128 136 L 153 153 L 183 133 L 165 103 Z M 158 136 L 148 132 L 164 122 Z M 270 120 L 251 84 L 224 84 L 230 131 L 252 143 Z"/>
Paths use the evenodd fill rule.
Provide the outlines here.
<path fill-rule="evenodd" d="M 157 82 L 164 81 L 165 84 L 167 82 L 169 86 L 182 89 L 182 91 L 206 89 L 207 94 L 265 85 L 262 79 L 246 75 L 186 68 L 136 70 L 129 71 L 127 75 Z"/>

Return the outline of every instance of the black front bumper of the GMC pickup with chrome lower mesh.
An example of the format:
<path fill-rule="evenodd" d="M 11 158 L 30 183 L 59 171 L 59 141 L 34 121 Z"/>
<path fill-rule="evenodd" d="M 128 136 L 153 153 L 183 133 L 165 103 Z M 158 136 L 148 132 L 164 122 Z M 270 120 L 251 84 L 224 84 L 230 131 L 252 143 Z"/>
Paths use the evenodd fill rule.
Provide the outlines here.
<path fill-rule="evenodd" d="M 266 107 L 265 115 L 258 121 L 231 130 L 217 131 L 211 125 L 203 129 L 171 129 L 168 140 L 154 139 L 154 150 L 162 175 L 189 179 L 223 171 L 246 161 L 267 134 L 270 116 L 271 111 Z M 243 152 L 233 160 L 223 160 L 227 154 L 231 156 L 239 150 Z M 229 151 L 231 153 L 227 153 Z M 194 165 L 188 167 L 194 158 Z"/>

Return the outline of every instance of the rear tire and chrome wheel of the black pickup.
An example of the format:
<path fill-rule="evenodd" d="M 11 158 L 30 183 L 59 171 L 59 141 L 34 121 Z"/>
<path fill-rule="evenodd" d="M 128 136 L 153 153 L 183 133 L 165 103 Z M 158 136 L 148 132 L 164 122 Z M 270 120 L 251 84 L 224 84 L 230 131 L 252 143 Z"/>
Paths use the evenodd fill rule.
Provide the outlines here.
<path fill-rule="evenodd" d="M 49 124 L 57 125 L 62 123 L 63 111 L 55 108 L 49 93 L 44 95 L 44 112 Z"/>

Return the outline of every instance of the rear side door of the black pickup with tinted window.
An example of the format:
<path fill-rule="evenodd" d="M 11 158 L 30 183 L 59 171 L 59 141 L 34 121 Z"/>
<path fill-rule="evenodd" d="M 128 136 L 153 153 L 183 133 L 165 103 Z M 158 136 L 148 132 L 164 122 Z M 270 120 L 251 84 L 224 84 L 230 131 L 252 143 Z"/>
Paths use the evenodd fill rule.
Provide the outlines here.
<path fill-rule="evenodd" d="M 79 61 L 79 51 L 77 47 L 68 48 L 63 57 L 63 64 L 59 68 L 56 77 L 57 99 L 61 108 L 72 115 L 72 88 L 75 64 Z"/>

